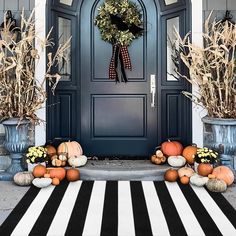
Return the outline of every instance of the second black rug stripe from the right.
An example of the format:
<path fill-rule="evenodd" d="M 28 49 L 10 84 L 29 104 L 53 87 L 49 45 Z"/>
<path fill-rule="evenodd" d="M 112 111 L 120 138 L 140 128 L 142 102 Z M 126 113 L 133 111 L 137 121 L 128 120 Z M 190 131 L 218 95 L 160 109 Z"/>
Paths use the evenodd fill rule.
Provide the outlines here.
<path fill-rule="evenodd" d="M 222 235 L 220 230 L 217 228 L 217 225 L 215 224 L 191 186 L 183 185 L 179 182 L 178 184 L 204 233 L 206 235 L 212 236 Z"/>

